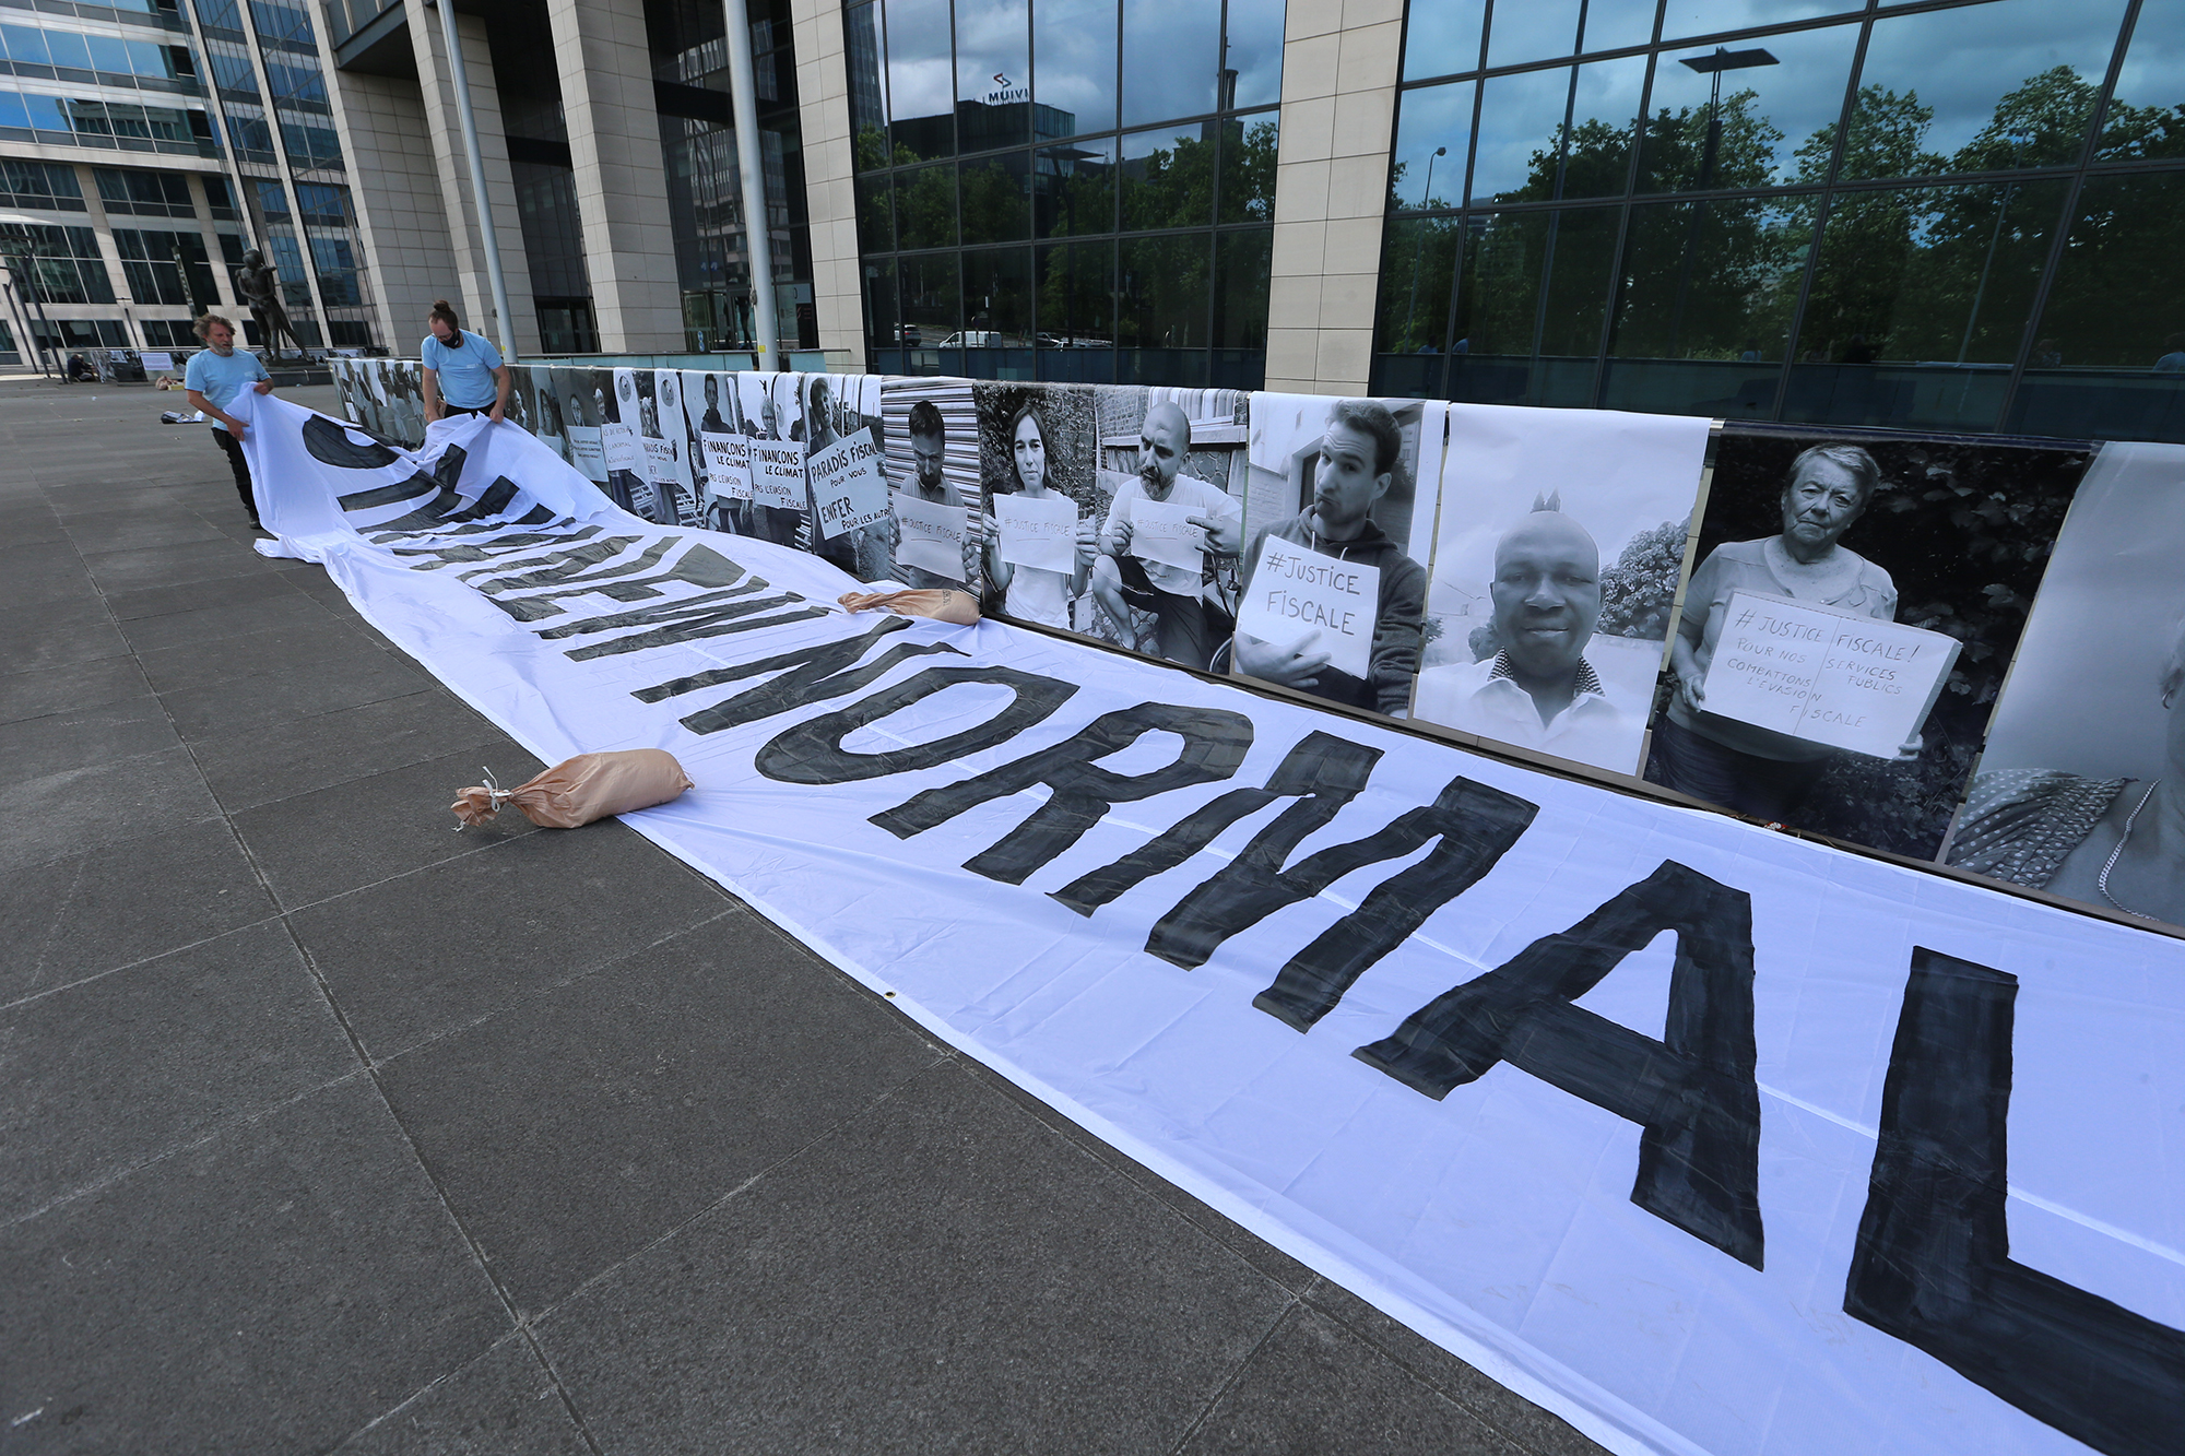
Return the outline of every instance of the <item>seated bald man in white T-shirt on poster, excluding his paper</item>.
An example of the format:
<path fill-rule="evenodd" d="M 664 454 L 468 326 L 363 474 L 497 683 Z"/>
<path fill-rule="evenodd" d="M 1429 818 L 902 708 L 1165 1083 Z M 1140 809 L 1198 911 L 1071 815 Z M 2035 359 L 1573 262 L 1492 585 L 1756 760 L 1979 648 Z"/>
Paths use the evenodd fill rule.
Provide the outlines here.
<path fill-rule="evenodd" d="M 1147 562 L 1130 551 L 1130 507 L 1134 501 L 1154 501 L 1189 505 L 1186 520 L 1206 531 L 1206 551 L 1237 555 L 1243 507 L 1219 485 L 1182 474 L 1189 453 L 1191 420 L 1184 411 L 1171 400 L 1147 409 L 1145 424 L 1138 426 L 1138 474 L 1114 492 L 1101 527 L 1101 553 L 1092 562 L 1092 599 L 1125 636 L 1132 632 L 1132 608 L 1151 612 L 1154 651 L 1169 662 L 1204 669 L 1221 645 L 1206 617 L 1204 573 Z M 1123 645 L 1147 649 L 1143 641 Z"/>

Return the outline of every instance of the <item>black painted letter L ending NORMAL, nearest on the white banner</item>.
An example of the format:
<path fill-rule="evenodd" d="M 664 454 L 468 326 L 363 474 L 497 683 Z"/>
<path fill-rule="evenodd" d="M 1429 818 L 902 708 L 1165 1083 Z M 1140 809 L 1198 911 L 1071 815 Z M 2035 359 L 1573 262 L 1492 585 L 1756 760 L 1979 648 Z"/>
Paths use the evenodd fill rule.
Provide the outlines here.
<path fill-rule="evenodd" d="M 2010 1261 L 2019 982 L 1912 951 L 1844 1312 L 2109 1456 L 2185 1445 L 2185 1334 Z"/>

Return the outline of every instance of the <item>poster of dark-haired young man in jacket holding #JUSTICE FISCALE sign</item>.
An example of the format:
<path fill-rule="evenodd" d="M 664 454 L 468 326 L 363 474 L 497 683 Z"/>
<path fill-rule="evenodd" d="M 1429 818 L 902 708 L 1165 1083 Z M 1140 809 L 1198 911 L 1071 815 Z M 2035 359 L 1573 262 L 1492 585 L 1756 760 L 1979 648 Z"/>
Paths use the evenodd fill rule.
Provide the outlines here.
<path fill-rule="evenodd" d="M 1412 540 L 1442 413 L 1420 400 L 1254 396 L 1232 671 L 1409 715 L 1427 606 Z"/>

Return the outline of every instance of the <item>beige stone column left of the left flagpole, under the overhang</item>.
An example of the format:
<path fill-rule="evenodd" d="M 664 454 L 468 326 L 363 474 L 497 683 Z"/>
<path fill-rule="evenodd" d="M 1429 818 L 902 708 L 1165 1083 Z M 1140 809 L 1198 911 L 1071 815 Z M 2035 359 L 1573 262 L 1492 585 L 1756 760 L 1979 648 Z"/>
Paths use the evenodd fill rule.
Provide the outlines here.
<path fill-rule="evenodd" d="M 328 101 L 347 151 L 350 206 L 356 208 L 356 238 L 365 249 L 371 324 L 380 345 L 409 354 L 424 339 L 433 300 L 457 278 L 424 96 L 406 77 L 336 70 L 323 42 L 319 57 L 332 81 Z"/>

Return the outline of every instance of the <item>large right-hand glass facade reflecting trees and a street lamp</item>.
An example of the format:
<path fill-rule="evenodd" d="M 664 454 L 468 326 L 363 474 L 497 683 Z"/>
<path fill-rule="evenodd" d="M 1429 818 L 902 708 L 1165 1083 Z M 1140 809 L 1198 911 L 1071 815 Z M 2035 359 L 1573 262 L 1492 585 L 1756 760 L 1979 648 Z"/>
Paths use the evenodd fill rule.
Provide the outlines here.
<path fill-rule="evenodd" d="M 2185 0 L 1414 4 L 1372 389 L 2185 439 Z"/>

